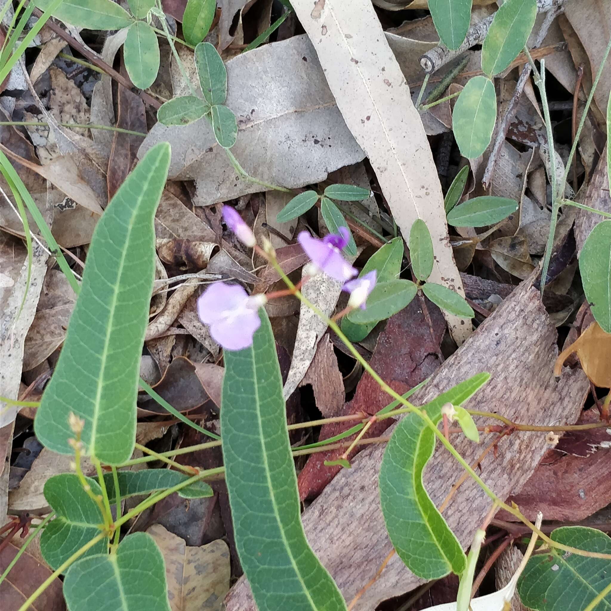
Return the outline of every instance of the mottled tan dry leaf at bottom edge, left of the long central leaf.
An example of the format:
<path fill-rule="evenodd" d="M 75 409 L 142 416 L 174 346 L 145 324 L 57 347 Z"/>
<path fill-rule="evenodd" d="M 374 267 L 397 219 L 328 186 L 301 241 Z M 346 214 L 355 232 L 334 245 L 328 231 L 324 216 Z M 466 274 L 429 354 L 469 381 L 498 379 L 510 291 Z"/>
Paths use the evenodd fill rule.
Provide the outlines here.
<path fill-rule="evenodd" d="M 218 539 L 200 547 L 153 524 L 147 533 L 155 539 L 166 561 L 167 595 L 172 611 L 221 611 L 229 591 L 229 547 Z"/>

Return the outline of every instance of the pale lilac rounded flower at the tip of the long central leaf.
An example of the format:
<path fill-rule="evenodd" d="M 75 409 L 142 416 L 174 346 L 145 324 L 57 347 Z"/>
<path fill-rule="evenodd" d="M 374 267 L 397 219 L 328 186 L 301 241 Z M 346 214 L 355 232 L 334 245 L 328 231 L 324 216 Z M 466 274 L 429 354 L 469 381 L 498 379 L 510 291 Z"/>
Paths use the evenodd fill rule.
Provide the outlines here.
<path fill-rule="evenodd" d="M 241 350 L 252 345 L 252 336 L 261 325 L 257 310 L 265 295 L 249 296 L 238 284 L 215 282 L 197 299 L 197 313 L 210 325 L 210 335 L 225 350 Z"/>

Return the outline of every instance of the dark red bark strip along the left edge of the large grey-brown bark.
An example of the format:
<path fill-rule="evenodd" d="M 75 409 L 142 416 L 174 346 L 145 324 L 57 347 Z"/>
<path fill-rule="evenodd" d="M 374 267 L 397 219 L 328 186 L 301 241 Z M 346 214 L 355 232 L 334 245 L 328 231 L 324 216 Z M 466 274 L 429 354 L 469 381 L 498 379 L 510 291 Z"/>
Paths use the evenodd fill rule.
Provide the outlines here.
<path fill-rule="evenodd" d="M 425 307 L 428 312 L 425 312 Z M 427 316 L 428 314 L 428 316 Z M 427 318 L 431 321 L 428 322 Z M 422 298 L 415 298 L 405 309 L 392 316 L 384 331 L 379 334 L 371 367 L 384 378 L 398 393 L 407 392 L 423 379 L 433 375 L 442 358 L 439 356 L 439 345 L 444 337 L 445 320 L 436 305 Z M 365 373 L 359 380 L 354 398 L 345 404 L 341 414 L 350 415 L 365 412 L 373 415 L 386 407 L 392 397 L 389 397 L 378 386 L 376 381 Z M 366 437 L 376 437 L 384 433 L 392 419 L 381 420 L 373 424 Z M 320 439 L 328 439 L 334 435 L 348 430 L 357 422 L 334 422 L 324 425 L 320 432 Z M 354 448 L 351 458 L 362 449 Z M 324 487 L 337 475 L 342 467 L 327 467 L 326 460 L 339 458 L 344 449 L 329 450 L 312 454 L 305 463 L 298 477 L 299 497 L 301 500 L 313 499 L 318 496 Z"/>

